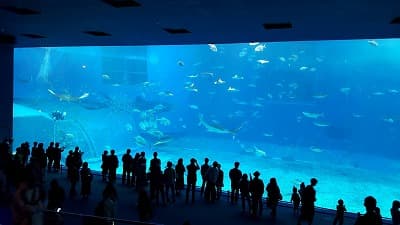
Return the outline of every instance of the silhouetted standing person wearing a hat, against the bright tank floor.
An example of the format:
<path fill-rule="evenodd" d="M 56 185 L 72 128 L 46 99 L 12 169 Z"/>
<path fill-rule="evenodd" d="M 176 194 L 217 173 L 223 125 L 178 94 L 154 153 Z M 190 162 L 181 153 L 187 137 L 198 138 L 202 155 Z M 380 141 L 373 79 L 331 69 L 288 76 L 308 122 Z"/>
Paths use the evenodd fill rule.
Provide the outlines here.
<path fill-rule="evenodd" d="M 260 172 L 256 171 L 253 173 L 254 179 L 252 179 L 250 175 L 250 184 L 249 190 L 251 194 L 252 200 L 252 216 L 257 216 L 257 211 L 259 216 L 262 215 L 263 211 L 263 204 L 262 204 L 262 196 L 264 194 L 264 182 L 259 178 Z"/>

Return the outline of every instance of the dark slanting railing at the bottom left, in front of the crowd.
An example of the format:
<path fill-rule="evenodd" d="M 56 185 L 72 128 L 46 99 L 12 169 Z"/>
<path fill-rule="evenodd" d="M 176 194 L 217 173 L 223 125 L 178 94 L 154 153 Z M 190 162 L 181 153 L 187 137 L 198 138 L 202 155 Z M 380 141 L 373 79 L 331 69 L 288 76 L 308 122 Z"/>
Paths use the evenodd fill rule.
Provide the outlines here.
<path fill-rule="evenodd" d="M 81 221 L 80 224 L 84 225 L 116 225 L 116 224 L 130 224 L 130 225 L 163 225 L 160 223 L 151 223 L 151 222 L 142 222 L 142 221 L 134 221 L 134 220 L 126 220 L 119 218 L 110 218 L 110 217 L 101 217 L 94 216 L 82 213 L 72 213 L 65 211 L 54 211 L 54 210 L 45 210 L 45 220 L 46 224 L 58 225 L 65 224 L 64 221 L 71 220 L 76 224 Z M 70 219 L 68 219 L 70 217 Z M 71 218 L 72 217 L 72 218 Z M 77 221 L 78 220 L 78 221 Z"/>

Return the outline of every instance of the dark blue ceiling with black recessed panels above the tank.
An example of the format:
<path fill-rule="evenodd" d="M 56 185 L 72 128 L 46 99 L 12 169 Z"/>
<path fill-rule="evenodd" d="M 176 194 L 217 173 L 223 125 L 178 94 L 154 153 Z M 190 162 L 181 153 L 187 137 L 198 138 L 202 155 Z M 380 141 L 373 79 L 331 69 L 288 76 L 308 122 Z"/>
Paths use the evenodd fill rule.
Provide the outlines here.
<path fill-rule="evenodd" d="M 400 37 L 399 0 L 136 3 L 0 0 L 0 39 L 15 40 L 16 47 L 33 47 Z"/>

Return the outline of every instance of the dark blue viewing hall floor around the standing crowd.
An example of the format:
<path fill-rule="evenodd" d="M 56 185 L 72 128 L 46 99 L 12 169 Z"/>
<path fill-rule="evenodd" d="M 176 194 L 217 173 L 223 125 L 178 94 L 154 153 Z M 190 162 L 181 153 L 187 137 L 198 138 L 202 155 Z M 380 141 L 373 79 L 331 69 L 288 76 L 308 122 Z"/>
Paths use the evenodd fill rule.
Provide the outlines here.
<path fill-rule="evenodd" d="M 66 174 L 50 174 L 47 181 L 57 178 L 60 184 L 68 192 L 68 183 Z M 89 199 L 82 200 L 80 197 L 75 199 L 68 198 L 65 202 L 63 211 L 77 214 L 93 214 L 97 202 L 101 198 L 101 193 L 105 183 L 101 177 L 95 176 L 92 183 L 92 195 Z M 138 220 L 136 211 L 137 193 L 134 188 L 126 187 L 118 180 L 115 185 L 118 190 L 117 218 L 126 220 Z M 80 187 L 79 187 L 80 188 Z M 318 193 L 317 193 L 318 195 Z M 197 201 L 194 204 L 185 204 L 184 197 L 178 197 L 173 205 L 154 206 L 154 216 L 149 222 L 165 225 L 181 225 L 185 220 L 189 220 L 192 225 L 221 225 L 221 224 L 279 224 L 295 225 L 297 218 L 292 215 L 292 208 L 286 204 L 278 208 L 276 221 L 269 217 L 269 210 L 264 208 L 263 215 L 260 218 L 251 218 L 247 214 L 242 214 L 240 205 L 231 205 L 227 197 L 223 197 L 214 204 L 206 203 L 200 198 L 200 193 L 196 193 Z M 332 211 L 317 212 L 315 225 L 331 225 L 333 221 Z M 82 224 L 80 216 L 64 215 L 64 224 L 79 225 Z M 122 224 L 122 223 L 119 223 Z M 304 222 L 304 224 L 306 224 Z M 348 215 L 345 218 L 345 224 L 354 224 L 354 215 Z M 1 223 L 0 223 L 1 225 Z"/>

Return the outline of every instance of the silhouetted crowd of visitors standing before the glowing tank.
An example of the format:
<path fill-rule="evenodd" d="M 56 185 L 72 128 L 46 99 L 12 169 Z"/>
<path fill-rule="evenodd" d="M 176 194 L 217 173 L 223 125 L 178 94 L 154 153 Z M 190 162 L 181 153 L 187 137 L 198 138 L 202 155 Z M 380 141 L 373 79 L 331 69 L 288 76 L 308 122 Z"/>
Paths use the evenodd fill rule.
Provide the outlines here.
<path fill-rule="evenodd" d="M 13 223 L 16 225 L 43 225 L 63 224 L 62 217 L 57 213 L 63 207 L 66 192 L 56 179 L 50 181 L 46 191 L 45 182 L 47 173 L 61 172 L 61 154 L 64 148 L 59 143 L 51 142 L 45 149 L 43 143 L 34 142 L 30 147 L 28 142 L 22 143 L 16 148 L 15 154 L 11 150 L 12 140 L 4 140 L 0 144 L 0 201 L 2 206 L 11 205 Z M 84 162 L 83 152 L 77 146 L 68 152 L 65 160 L 67 178 L 70 183 L 69 197 L 78 195 L 77 184 L 80 183 L 80 196 L 87 199 L 91 194 L 93 180 L 89 164 Z M 131 155 L 127 149 L 122 156 L 122 185 L 135 187 L 138 191 L 137 209 L 139 219 L 147 221 L 152 218 L 153 203 L 165 206 L 174 204 L 176 198 L 184 193 L 186 204 L 195 203 L 195 191 L 197 174 L 200 171 L 201 187 L 200 196 L 210 204 L 222 197 L 224 187 L 224 171 L 221 164 L 214 161 L 210 164 L 208 158 L 200 166 L 196 159 L 190 159 L 189 164 L 184 165 L 179 158 L 176 165 L 171 161 L 162 169 L 158 153 L 153 153 L 147 170 L 145 152 L 137 152 Z M 94 209 L 94 215 L 98 217 L 115 218 L 115 206 L 118 194 L 114 187 L 117 183 L 117 168 L 119 159 L 115 150 L 110 153 L 106 150 L 102 154 L 101 177 L 107 183 L 101 200 Z M 240 201 L 243 214 L 259 217 L 263 213 L 263 195 L 267 194 L 266 206 L 270 209 L 272 219 L 276 218 L 277 206 L 282 200 L 282 194 L 277 179 L 272 177 L 267 184 L 260 178 L 260 172 L 252 174 L 242 173 L 240 163 L 234 162 L 229 170 L 231 183 L 228 199 L 231 204 Z M 186 183 L 185 183 L 186 174 Z M 293 205 L 293 215 L 298 217 L 297 224 L 303 221 L 312 224 L 315 214 L 316 178 L 310 180 L 310 184 L 304 182 L 300 187 L 293 187 L 290 202 Z M 149 192 L 149 194 L 148 194 Z M 382 217 L 377 207 L 376 199 L 372 196 L 365 198 L 365 214 L 359 214 L 355 225 L 381 225 Z M 393 224 L 400 223 L 400 202 L 393 201 L 391 208 Z M 338 200 L 336 215 L 333 224 L 343 225 L 346 207 L 342 199 Z M 46 216 L 44 216 L 46 215 Z M 86 224 L 110 224 L 103 219 L 87 219 Z"/>

